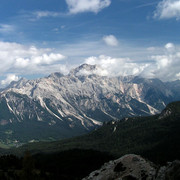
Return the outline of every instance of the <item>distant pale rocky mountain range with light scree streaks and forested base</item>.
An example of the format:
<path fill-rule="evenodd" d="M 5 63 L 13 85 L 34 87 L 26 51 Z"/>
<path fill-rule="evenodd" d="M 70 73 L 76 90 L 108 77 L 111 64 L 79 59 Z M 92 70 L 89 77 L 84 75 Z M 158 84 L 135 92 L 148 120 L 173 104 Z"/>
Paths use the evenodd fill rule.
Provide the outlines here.
<path fill-rule="evenodd" d="M 180 81 L 100 76 L 83 64 L 68 75 L 12 82 L 0 92 L 0 143 L 18 145 L 84 134 L 104 122 L 159 113 L 180 100 Z"/>

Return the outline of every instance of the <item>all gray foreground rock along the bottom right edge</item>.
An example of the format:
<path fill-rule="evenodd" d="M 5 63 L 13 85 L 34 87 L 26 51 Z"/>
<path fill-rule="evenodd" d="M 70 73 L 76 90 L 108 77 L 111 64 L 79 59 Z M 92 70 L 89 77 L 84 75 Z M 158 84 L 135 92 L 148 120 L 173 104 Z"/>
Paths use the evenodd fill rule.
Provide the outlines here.
<path fill-rule="evenodd" d="M 177 180 L 180 161 L 158 168 L 139 155 L 129 154 L 104 164 L 83 180 Z"/>

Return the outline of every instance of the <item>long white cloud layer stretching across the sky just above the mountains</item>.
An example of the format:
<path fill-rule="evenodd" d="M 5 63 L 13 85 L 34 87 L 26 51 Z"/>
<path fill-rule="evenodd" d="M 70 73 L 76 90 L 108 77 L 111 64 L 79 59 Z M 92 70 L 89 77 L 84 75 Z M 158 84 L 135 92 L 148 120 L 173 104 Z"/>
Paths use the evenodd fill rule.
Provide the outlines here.
<path fill-rule="evenodd" d="M 115 57 L 112 57 L 112 54 L 111 56 L 85 54 L 84 60 L 74 62 L 70 66 L 66 64 L 68 61 L 71 63 L 70 57 L 79 57 L 79 54 L 76 55 L 74 50 L 73 52 L 67 50 L 66 55 L 69 57 L 66 58 L 52 49 L 42 49 L 35 46 L 0 42 L 0 47 L 0 86 L 6 86 L 11 81 L 25 76 L 45 76 L 56 71 L 67 74 L 71 67 L 78 66 L 80 63 L 99 65 L 100 68 L 93 73 L 102 76 L 140 75 L 148 78 L 159 78 L 163 81 L 180 79 L 180 47 L 173 43 L 167 43 L 164 47 L 142 48 L 141 51 L 150 52 L 149 57 L 144 56 L 144 61 L 128 57 L 131 52 L 124 49 L 128 53 L 123 58 L 117 54 Z M 81 51 L 78 52 L 81 53 Z M 90 54 L 93 52 L 95 51 L 90 51 Z M 70 56 L 71 53 L 74 54 Z M 87 74 L 89 72 L 81 73 Z"/>

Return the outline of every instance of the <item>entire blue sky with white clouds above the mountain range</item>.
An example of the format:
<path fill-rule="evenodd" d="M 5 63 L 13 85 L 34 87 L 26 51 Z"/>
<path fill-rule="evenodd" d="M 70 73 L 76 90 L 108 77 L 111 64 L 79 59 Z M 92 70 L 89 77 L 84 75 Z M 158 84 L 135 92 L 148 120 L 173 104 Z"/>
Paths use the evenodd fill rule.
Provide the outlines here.
<path fill-rule="evenodd" d="M 0 88 L 97 64 L 180 79 L 180 0 L 0 0 Z"/>

